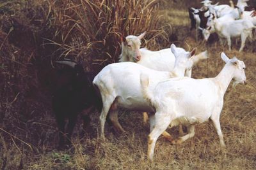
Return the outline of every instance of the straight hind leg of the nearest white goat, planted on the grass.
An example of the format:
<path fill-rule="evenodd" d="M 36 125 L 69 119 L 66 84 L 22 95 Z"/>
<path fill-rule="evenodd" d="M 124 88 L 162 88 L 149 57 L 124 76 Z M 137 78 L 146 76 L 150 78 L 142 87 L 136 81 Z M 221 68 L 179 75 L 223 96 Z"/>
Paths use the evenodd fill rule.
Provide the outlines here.
<path fill-rule="evenodd" d="M 148 135 L 148 159 L 153 160 L 154 148 L 156 141 L 159 136 L 167 129 L 168 125 L 171 123 L 171 118 L 169 114 L 156 113 L 154 129 Z"/>

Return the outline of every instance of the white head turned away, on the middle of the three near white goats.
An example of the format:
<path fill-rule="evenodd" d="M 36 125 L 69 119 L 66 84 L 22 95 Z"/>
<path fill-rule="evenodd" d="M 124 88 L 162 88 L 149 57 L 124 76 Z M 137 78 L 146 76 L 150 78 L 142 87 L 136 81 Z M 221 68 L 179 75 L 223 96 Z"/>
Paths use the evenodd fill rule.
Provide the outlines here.
<path fill-rule="evenodd" d="M 193 67 L 193 56 L 196 53 L 197 48 L 193 48 L 191 52 L 186 52 L 182 48 L 177 48 L 174 44 L 171 45 L 171 50 L 175 56 L 174 72 L 176 76 L 184 76 L 186 71 L 189 71 Z"/>

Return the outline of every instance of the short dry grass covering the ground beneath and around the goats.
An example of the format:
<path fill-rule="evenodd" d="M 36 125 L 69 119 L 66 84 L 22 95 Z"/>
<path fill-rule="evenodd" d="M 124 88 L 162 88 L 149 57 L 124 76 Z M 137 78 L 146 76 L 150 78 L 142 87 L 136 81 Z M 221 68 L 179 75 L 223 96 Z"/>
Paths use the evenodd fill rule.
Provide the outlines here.
<path fill-rule="evenodd" d="M 227 4 L 228 1 L 221 1 L 221 3 Z M 120 110 L 119 120 L 127 134 L 116 134 L 113 128 L 106 124 L 106 141 L 102 142 L 99 138 L 99 113 L 95 112 L 92 113 L 89 132 L 84 133 L 81 121 L 78 120 L 72 136 L 73 148 L 66 151 L 56 150 L 58 129 L 51 111 L 51 95 L 44 94 L 47 88 L 33 83 L 35 81 L 33 78 L 40 73 L 24 74 L 26 72 L 22 71 L 24 69 L 22 63 L 19 58 L 15 58 L 19 53 L 20 56 L 26 55 L 31 59 L 36 50 L 26 51 L 31 48 L 17 46 L 17 41 L 20 41 L 18 36 L 17 41 L 8 42 L 12 50 L 6 50 L 9 44 L 7 45 L 4 38 L 8 38 L 9 34 L 8 31 L 4 31 L 2 17 L 1 31 L 5 33 L 0 34 L 0 45 L 2 44 L 0 49 L 3 50 L 3 59 L 0 60 L 3 62 L 3 64 L 0 62 L 2 73 L 0 78 L 8 75 L 10 80 L 11 78 L 14 80 L 1 83 L 1 169 L 256 169 L 255 41 L 246 41 L 244 52 L 241 53 L 238 52 L 240 41 L 237 45 L 235 41 L 233 42 L 230 52 L 227 46 L 220 46 L 218 41 L 207 45 L 200 40 L 196 42 L 195 31 L 189 31 L 188 6 L 200 6 L 200 3 L 183 0 L 164 1 L 159 4 L 157 13 L 162 15 L 159 24 L 166 25 L 164 31 L 166 37 L 170 37 L 170 41 L 166 39 L 161 41 L 160 38 L 157 41 L 160 45 L 150 46 L 150 43 L 147 43 L 147 48 L 150 50 L 160 47 L 168 48 L 171 43 L 175 43 L 186 50 L 194 47 L 198 48 L 198 52 L 208 50 L 209 59 L 195 66 L 193 78 L 216 76 L 225 65 L 220 58 L 221 52 L 225 52 L 228 57 L 236 56 L 244 61 L 247 85 L 237 85 L 236 89 L 230 85 L 225 94 L 220 118 L 221 130 L 227 146 L 224 150 L 220 148 L 220 141 L 212 122 L 205 122 L 196 125 L 195 137 L 182 145 L 171 145 L 166 139 L 159 138 L 156 143 L 154 162 L 149 163 L 147 160 L 149 127 L 143 125 L 141 113 L 124 110 Z M 138 34 L 140 32 L 137 32 Z M 149 34 L 148 38 L 152 38 L 153 33 Z M 173 34 L 176 38 L 171 36 Z M 28 46 L 29 43 L 26 45 Z M 25 51 L 22 52 L 24 49 Z M 12 57 L 7 59 L 4 54 Z M 21 64 L 18 63 L 15 67 L 6 65 L 8 63 L 11 65 L 13 62 Z M 86 63 L 87 65 L 90 64 Z M 34 71 L 34 67 L 26 66 L 28 67 L 24 70 L 29 73 Z M 21 71 L 16 74 L 15 69 L 19 69 L 18 67 Z M 16 80 L 20 84 L 13 85 L 12 83 Z M 31 86 L 23 87 L 22 82 L 28 81 L 31 82 Z M 45 82 L 41 84 L 45 85 Z M 29 93 L 23 94 L 19 91 L 19 86 L 29 89 Z M 19 106 L 14 107 L 13 104 Z M 168 132 L 175 137 L 178 136 L 177 128 L 168 129 Z"/>

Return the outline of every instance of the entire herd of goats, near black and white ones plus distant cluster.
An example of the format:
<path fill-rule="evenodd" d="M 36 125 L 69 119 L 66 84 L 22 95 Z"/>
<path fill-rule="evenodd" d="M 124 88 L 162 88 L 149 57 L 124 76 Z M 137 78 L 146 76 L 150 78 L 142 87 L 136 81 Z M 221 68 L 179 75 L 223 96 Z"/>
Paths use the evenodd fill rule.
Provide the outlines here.
<path fill-rule="evenodd" d="M 203 27 L 202 22 L 199 25 L 196 20 L 196 27 L 202 27 L 203 32 L 218 32 L 220 38 L 228 39 L 229 47 L 230 37 L 240 34 L 244 42 L 252 33 L 254 26 L 250 20 L 235 20 L 235 15 L 232 13 L 239 11 L 237 8 L 228 5 L 211 5 L 211 1 L 203 1 L 203 3 L 207 10 L 194 8 L 189 10 L 193 11 L 192 15 L 195 19 L 196 11 L 201 17 L 205 17 L 205 13 L 210 11 L 209 16 L 205 17 L 208 20 L 207 27 Z M 227 12 L 228 9 L 230 12 Z M 241 7 L 239 9 L 241 10 Z M 245 17 L 245 11 L 243 13 Z M 227 18 L 225 23 L 221 24 L 223 17 Z M 195 124 L 209 119 L 212 120 L 218 133 L 221 146 L 225 146 L 220 127 L 223 97 L 232 79 L 234 85 L 246 82 L 244 62 L 236 57 L 229 59 L 222 52 L 221 59 L 225 62 L 225 66 L 216 77 L 193 79 L 192 67 L 199 60 L 207 59 L 207 51 L 195 55 L 196 48 L 187 52 L 172 44 L 170 48 L 153 52 L 140 48 L 145 33 L 124 38 L 120 62 L 109 64 L 98 74 L 84 72 L 83 67 L 72 60 L 58 62 L 67 66 L 59 73 L 61 88 L 54 93 L 52 103 L 60 130 L 61 148 L 71 144 L 70 137 L 77 115 L 83 112 L 84 125 L 86 125 L 90 121 L 88 113 L 94 108 L 101 111 L 99 118 L 101 138 L 104 138 L 104 124 L 108 115 L 115 130 L 125 132 L 118 122 L 118 108 L 148 112 L 150 122 L 148 159 L 150 160 L 153 160 L 154 147 L 161 134 L 171 143 L 180 144 L 195 135 Z M 243 43 L 240 50 L 243 50 Z M 65 131 L 65 119 L 68 119 L 67 131 Z M 188 134 L 173 139 L 165 130 L 169 126 L 177 125 L 185 125 Z"/>

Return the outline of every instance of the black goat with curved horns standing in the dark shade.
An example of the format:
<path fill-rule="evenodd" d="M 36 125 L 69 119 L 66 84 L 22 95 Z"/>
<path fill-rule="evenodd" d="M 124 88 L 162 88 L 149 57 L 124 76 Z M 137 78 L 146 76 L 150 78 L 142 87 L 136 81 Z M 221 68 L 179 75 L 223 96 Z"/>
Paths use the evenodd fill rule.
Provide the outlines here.
<path fill-rule="evenodd" d="M 56 115 L 59 128 L 59 147 L 69 147 L 71 135 L 76 125 L 77 115 L 83 111 L 88 113 L 97 108 L 102 110 L 102 99 L 93 87 L 92 81 L 96 73 L 85 72 L 83 66 L 72 60 L 58 61 L 65 65 L 58 71 L 57 88 L 52 99 L 52 110 Z M 68 120 L 68 123 L 66 122 Z M 89 124 L 90 116 L 83 115 L 84 126 Z M 67 131 L 65 125 L 67 124 Z"/>

